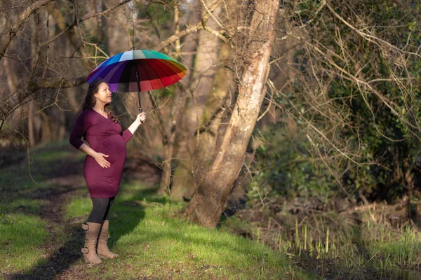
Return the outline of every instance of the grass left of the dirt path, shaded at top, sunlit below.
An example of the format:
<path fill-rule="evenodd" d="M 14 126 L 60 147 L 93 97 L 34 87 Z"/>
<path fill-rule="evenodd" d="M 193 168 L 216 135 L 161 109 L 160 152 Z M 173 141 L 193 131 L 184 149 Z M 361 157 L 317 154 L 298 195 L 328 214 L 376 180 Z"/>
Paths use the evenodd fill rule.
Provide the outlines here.
<path fill-rule="evenodd" d="M 20 152 L 22 153 L 22 152 Z M 49 152 L 53 154 L 53 152 Z M 48 151 L 44 151 L 44 156 Z M 46 222 L 39 217 L 44 199 L 36 198 L 40 192 L 53 188 L 44 182 L 43 159 L 34 157 L 31 162 L 32 181 L 27 158 L 18 164 L 0 169 L 0 272 L 19 272 L 39 262 L 48 241 Z"/>

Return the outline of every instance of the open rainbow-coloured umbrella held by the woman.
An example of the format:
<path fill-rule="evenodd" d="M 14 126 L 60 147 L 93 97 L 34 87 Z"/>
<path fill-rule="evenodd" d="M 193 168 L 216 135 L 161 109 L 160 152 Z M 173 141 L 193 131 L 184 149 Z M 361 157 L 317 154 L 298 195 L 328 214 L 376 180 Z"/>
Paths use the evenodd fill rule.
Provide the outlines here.
<path fill-rule="evenodd" d="M 109 57 L 86 78 L 86 83 L 101 79 L 112 92 L 157 90 L 177 83 L 186 74 L 186 67 L 177 60 L 154 50 L 129 50 Z"/>

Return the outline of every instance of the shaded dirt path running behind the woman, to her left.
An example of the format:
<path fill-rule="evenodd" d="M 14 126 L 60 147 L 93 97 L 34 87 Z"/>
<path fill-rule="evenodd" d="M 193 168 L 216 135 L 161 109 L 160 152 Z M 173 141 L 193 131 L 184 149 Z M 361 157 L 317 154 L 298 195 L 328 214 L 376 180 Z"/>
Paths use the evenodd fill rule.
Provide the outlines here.
<path fill-rule="evenodd" d="M 68 202 L 74 197 L 88 195 L 81 175 L 83 162 L 75 164 L 74 161 L 63 159 L 54 164 L 58 168 L 53 168 L 51 174 L 46 176 L 49 179 L 44 181 L 52 183 L 54 187 L 36 190 L 31 195 L 34 199 L 46 201 L 39 215 L 46 222 L 46 230 L 50 233 L 44 254 L 29 272 L 11 274 L 7 276 L 8 279 L 88 279 L 83 273 L 83 266 L 76 264 L 81 259 L 81 223 L 86 217 L 65 221 Z"/>

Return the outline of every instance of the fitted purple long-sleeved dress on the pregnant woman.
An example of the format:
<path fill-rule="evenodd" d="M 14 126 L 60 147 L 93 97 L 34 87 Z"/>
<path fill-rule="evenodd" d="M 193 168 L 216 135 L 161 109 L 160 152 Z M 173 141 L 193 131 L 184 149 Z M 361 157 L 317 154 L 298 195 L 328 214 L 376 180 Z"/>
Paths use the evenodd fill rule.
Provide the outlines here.
<path fill-rule="evenodd" d="M 107 114 L 105 118 L 93 109 L 82 111 L 70 133 L 69 142 L 74 148 L 84 143 L 85 137 L 93 151 L 109 155 L 105 157 L 111 167 L 105 168 L 98 165 L 90 155 L 86 155 L 83 165 L 91 197 L 115 197 L 119 192 L 121 174 L 126 161 L 126 143 L 133 134 L 130 130 L 121 132 L 121 125 L 114 123 Z"/>

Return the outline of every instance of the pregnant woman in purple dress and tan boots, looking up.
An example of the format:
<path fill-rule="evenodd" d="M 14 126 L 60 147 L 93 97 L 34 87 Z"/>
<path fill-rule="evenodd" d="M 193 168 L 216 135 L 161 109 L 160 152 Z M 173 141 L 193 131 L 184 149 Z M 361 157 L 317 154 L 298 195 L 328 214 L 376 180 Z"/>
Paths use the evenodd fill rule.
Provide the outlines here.
<path fill-rule="evenodd" d="M 102 80 L 89 85 L 83 111 L 80 113 L 70 134 L 70 144 L 86 153 L 83 176 L 92 200 L 92 211 L 88 221 L 82 225 L 85 246 L 81 248 L 88 263 L 102 262 L 102 258 L 116 258 L 107 246 L 109 208 L 119 191 L 121 173 L 126 161 L 126 143 L 139 125 L 145 121 L 145 113 L 122 132 L 120 121 L 109 111 L 111 92 Z M 88 141 L 86 145 L 81 137 Z M 98 254 L 96 247 L 98 244 Z M 99 256 L 99 257 L 98 257 Z"/>

